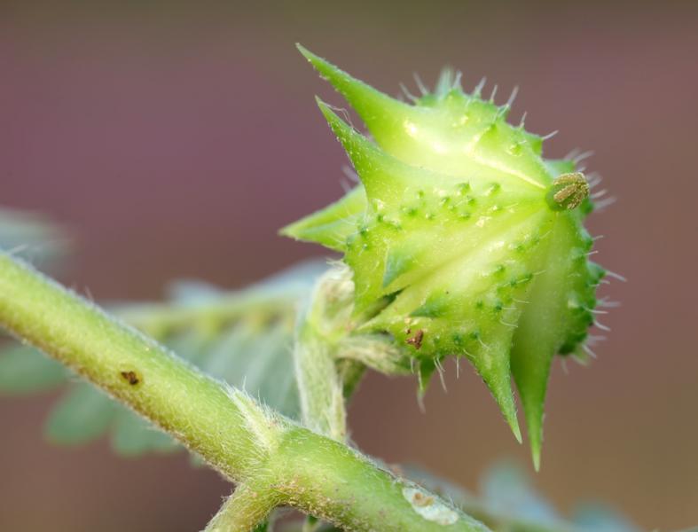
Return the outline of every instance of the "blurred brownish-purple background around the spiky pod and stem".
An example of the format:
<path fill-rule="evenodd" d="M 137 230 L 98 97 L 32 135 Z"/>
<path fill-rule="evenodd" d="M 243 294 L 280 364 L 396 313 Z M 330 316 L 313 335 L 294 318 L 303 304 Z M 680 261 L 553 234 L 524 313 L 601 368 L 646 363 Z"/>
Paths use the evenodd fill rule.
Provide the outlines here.
<path fill-rule="evenodd" d="M 254 5 L 253 5 L 254 4 Z M 487 75 L 513 120 L 560 129 L 546 154 L 595 150 L 618 200 L 592 216 L 623 301 L 588 369 L 553 372 L 538 486 L 562 509 L 613 503 L 643 528 L 698 523 L 695 3 L 3 2 L 0 203 L 74 231 L 63 280 L 154 298 L 173 278 L 224 286 L 310 255 L 278 227 L 341 194 L 344 154 L 315 106 L 344 105 L 300 41 L 396 94 L 444 63 Z M 491 87 L 491 84 L 490 84 Z M 360 447 L 474 489 L 502 456 L 529 466 L 472 372 L 420 413 L 409 380 L 367 379 Z M 129 461 L 41 438 L 52 397 L 0 401 L 1 530 L 182 530 L 228 487 L 184 456 Z"/>

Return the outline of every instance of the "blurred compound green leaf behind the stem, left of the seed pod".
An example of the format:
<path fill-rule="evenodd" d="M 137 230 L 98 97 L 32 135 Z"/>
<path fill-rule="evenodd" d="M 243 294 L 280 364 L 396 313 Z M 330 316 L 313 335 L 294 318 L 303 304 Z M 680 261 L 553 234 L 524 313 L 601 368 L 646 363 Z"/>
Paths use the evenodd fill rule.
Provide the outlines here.
<path fill-rule="evenodd" d="M 115 312 L 210 375 L 298 418 L 291 351 L 295 311 L 325 269 L 325 262 L 304 262 L 236 292 L 178 282 L 165 303 L 122 304 Z M 11 344 L 0 349 L 0 394 L 66 386 L 71 375 L 34 348 Z M 87 382 L 72 385 L 59 399 L 45 432 L 51 442 L 66 445 L 109 434 L 113 449 L 125 456 L 180 449 L 168 434 Z"/>

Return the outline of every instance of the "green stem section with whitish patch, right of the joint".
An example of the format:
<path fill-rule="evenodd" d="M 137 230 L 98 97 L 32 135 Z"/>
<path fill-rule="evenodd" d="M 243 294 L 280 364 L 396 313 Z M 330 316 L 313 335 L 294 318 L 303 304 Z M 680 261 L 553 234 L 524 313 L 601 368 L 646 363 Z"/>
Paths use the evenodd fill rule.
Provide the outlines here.
<path fill-rule="evenodd" d="M 272 464 L 285 466 L 275 488 L 290 505 L 345 530 L 409 532 L 488 528 L 411 482 L 397 479 L 340 442 L 289 431 Z M 272 465 L 272 468 L 274 465 Z"/>

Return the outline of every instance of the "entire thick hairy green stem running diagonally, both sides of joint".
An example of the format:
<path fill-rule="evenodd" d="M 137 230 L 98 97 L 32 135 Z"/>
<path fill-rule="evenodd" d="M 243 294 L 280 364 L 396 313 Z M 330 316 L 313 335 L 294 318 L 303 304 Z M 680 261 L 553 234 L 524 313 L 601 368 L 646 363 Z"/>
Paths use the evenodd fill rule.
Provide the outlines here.
<path fill-rule="evenodd" d="M 268 512 L 271 497 L 347 530 L 486 530 L 357 451 L 201 374 L 8 254 L 0 254 L 0 325 L 161 426 L 231 480 L 259 487 L 261 503 L 248 499 L 245 506 L 250 520 Z"/>

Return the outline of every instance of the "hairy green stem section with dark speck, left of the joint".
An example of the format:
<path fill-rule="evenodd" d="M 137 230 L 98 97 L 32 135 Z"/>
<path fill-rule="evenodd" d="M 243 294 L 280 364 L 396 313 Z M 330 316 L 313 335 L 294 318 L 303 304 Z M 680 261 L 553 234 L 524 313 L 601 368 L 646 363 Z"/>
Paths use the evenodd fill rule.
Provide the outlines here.
<path fill-rule="evenodd" d="M 236 401 L 241 393 L 7 254 L 0 325 L 175 434 L 231 480 L 263 460 Z"/>

